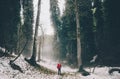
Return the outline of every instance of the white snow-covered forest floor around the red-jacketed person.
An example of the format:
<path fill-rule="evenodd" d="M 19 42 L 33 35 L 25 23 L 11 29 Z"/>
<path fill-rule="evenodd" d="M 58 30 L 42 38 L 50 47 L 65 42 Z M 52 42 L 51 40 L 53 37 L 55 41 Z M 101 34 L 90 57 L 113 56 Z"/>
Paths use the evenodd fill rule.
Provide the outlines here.
<path fill-rule="evenodd" d="M 20 73 L 18 70 L 13 70 L 9 63 L 11 58 L 0 58 L 0 79 L 120 79 L 120 74 L 114 72 L 112 75 L 108 74 L 108 67 L 96 68 L 94 73 L 89 76 L 82 76 L 80 73 L 75 73 L 76 69 L 71 69 L 67 66 L 62 67 L 62 72 L 70 72 L 69 75 L 59 76 L 56 74 L 45 74 L 41 71 L 36 70 L 34 67 L 30 66 L 26 61 L 24 61 L 23 56 L 19 57 L 15 63 L 19 65 L 24 73 Z M 54 71 L 56 70 L 56 65 L 51 65 L 51 63 L 40 63 L 43 66 L 48 67 Z M 48 66 L 49 65 L 49 66 Z M 89 68 L 86 69 L 90 71 Z"/>

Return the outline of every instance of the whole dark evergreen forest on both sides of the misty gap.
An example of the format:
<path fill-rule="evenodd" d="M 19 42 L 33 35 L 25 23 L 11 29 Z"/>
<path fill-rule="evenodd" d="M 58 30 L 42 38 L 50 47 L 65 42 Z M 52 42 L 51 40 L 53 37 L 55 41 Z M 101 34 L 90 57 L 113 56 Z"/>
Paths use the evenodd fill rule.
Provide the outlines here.
<path fill-rule="evenodd" d="M 22 1 L 22 2 L 21 2 Z M 60 58 L 77 65 L 75 0 L 66 0 L 62 16 L 57 0 L 50 0 L 51 19 L 60 42 Z M 24 22 L 21 21 L 21 5 Z M 120 66 L 120 11 L 118 0 L 77 0 L 81 55 L 89 65 Z M 33 40 L 33 0 L 0 0 L 0 47 L 18 53 L 26 41 Z M 56 39 L 57 39 L 56 38 Z"/>

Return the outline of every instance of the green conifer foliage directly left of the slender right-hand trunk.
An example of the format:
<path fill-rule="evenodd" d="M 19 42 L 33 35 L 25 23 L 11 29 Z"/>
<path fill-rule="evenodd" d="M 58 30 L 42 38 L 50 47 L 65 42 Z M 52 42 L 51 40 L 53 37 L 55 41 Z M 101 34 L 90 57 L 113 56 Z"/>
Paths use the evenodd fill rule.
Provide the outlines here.
<path fill-rule="evenodd" d="M 76 18 L 74 0 L 66 0 L 66 7 L 62 16 L 62 30 L 60 40 L 62 57 L 67 58 L 69 64 L 77 63 L 77 40 L 76 40 Z"/>

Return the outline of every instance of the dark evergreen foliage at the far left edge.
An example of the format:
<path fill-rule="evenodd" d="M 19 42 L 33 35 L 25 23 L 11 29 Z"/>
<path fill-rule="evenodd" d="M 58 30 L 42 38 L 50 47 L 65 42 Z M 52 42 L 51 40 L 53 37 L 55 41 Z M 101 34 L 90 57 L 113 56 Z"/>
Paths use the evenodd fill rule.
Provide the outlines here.
<path fill-rule="evenodd" d="M 0 1 L 0 46 L 12 51 L 17 45 L 17 30 L 20 23 L 20 1 Z"/>

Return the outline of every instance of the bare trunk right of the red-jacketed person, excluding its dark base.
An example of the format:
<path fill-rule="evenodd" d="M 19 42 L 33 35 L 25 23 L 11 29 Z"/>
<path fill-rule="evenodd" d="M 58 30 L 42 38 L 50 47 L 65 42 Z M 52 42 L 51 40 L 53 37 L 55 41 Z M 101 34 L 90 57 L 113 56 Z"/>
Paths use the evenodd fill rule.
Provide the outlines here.
<path fill-rule="evenodd" d="M 82 65 L 81 59 L 81 42 L 80 42 L 80 21 L 79 21 L 79 13 L 78 13 L 78 5 L 77 0 L 75 0 L 75 13 L 76 13 L 76 33 L 77 33 L 77 61 L 78 67 Z"/>

